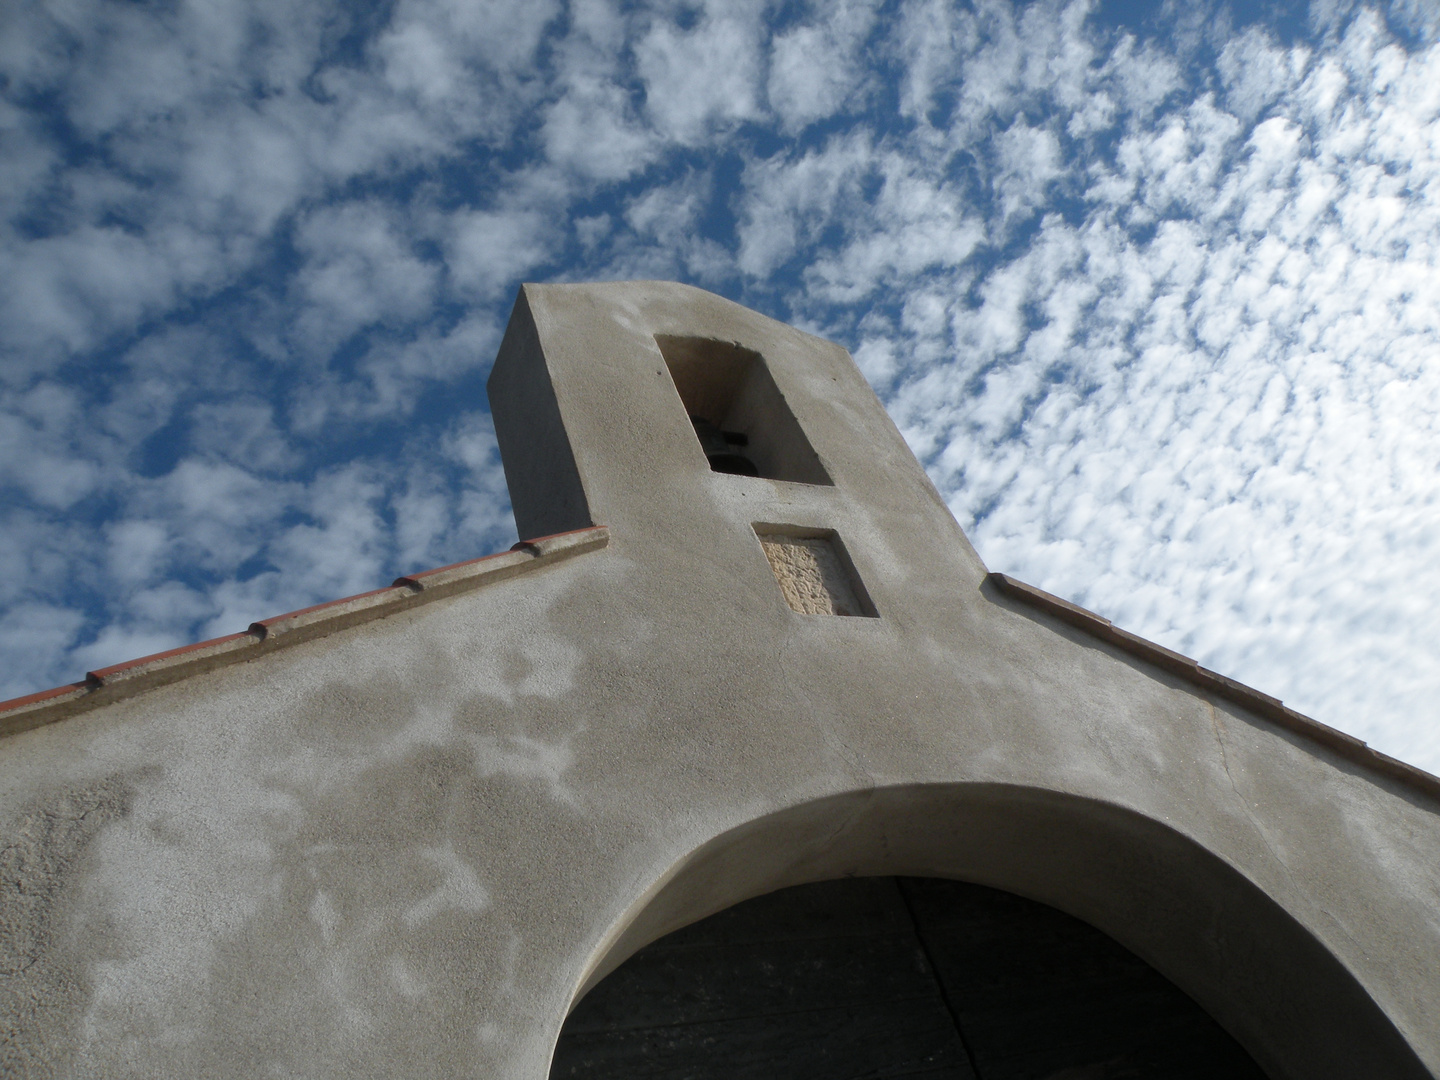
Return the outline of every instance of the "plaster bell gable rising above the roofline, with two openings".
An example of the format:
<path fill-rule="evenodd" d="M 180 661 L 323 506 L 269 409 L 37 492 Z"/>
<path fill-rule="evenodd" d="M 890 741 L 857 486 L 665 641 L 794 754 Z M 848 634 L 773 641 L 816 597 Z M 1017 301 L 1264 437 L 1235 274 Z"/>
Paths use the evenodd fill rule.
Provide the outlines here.
<path fill-rule="evenodd" d="M 520 534 L 608 526 L 675 564 L 657 580 L 671 606 L 729 590 L 904 618 L 976 599 L 984 566 L 831 341 L 672 282 L 526 285 L 490 396 Z M 710 625 L 750 616 L 706 603 Z"/>

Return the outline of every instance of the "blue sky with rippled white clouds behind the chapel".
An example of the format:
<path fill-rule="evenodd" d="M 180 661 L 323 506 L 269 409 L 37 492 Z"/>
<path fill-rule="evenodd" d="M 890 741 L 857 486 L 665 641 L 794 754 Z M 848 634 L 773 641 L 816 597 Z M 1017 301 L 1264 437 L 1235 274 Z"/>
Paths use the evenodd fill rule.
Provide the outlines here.
<path fill-rule="evenodd" d="M 514 540 L 521 281 L 842 341 L 986 563 L 1440 770 L 1424 3 L 0 9 L 0 697 Z"/>

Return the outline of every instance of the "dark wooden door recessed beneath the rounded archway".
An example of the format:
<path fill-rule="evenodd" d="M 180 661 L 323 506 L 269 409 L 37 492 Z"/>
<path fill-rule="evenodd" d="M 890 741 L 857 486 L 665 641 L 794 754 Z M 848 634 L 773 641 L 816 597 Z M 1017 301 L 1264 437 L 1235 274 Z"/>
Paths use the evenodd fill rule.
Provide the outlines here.
<path fill-rule="evenodd" d="M 930 878 L 749 900 L 582 999 L 553 1080 L 1263 1080 L 1133 953 L 1053 907 Z"/>

